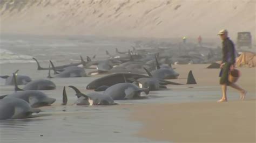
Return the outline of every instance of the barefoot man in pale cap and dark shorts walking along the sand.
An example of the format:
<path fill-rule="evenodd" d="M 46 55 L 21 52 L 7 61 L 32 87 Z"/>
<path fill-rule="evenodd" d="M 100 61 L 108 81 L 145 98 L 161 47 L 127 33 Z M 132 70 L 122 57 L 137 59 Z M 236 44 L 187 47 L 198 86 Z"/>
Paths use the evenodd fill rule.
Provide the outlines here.
<path fill-rule="evenodd" d="M 227 86 L 237 89 L 240 92 L 240 99 L 244 99 L 246 92 L 244 89 L 240 88 L 237 84 L 228 81 L 228 73 L 230 70 L 235 68 L 235 47 L 233 42 L 228 38 L 227 30 L 220 30 L 218 35 L 222 40 L 222 53 L 223 59 L 220 65 L 220 84 L 222 89 L 222 98 L 218 102 L 227 102 Z"/>

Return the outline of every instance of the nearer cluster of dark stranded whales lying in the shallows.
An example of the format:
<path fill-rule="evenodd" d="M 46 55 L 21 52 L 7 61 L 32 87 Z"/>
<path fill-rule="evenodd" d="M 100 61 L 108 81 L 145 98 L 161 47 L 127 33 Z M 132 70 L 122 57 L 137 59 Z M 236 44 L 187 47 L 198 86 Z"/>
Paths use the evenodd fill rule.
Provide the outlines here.
<path fill-rule="evenodd" d="M 106 73 L 111 73 L 110 75 L 97 78 L 87 84 L 86 89 L 95 90 L 95 92 L 90 94 L 83 94 L 76 87 L 69 85 L 69 87 L 76 92 L 77 101 L 74 103 L 75 105 L 116 105 L 115 100 L 143 99 L 146 97 L 140 96 L 141 92 L 145 92 L 145 94 L 148 95 L 150 91 L 167 88 L 167 84 L 180 85 L 180 83 L 167 81 L 168 79 L 178 78 L 179 76 L 172 67 L 160 65 L 160 63 L 167 61 L 167 58 L 165 58 L 165 60 L 160 59 L 159 62 L 159 55 L 154 54 L 151 55 L 151 59 L 154 59 L 153 62 L 149 60 L 149 57 L 143 59 L 141 55 L 135 52 L 131 53 L 129 51 L 128 53 L 122 53 L 117 50 L 117 54 L 121 54 L 122 56 L 114 56 L 115 58 L 105 61 L 92 61 L 89 57 L 87 57 L 87 61 L 84 61 L 81 56 L 81 62 L 79 63 L 57 67 L 50 61 L 51 66 L 49 66 L 49 68 L 42 68 L 39 62 L 35 58 L 33 59 L 37 61 L 38 70 L 49 70 L 49 78 L 52 78 L 50 75 L 51 69 L 55 72 L 54 78 L 84 77 L 86 76 L 84 68 L 89 68 L 89 66 L 92 65 L 97 65 L 98 71 L 105 70 Z M 139 57 L 140 60 L 138 60 Z M 149 63 L 145 63 L 145 61 Z M 145 63 L 144 66 L 143 63 Z M 109 65 L 109 67 L 106 65 Z M 122 70 L 122 72 L 118 72 L 119 70 L 117 70 L 117 73 L 110 72 L 111 69 L 117 68 L 120 65 L 125 65 L 125 68 L 127 66 L 137 69 L 142 68 L 143 72 L 136 73 L 136 70 L 132 73 L 129 70 Z M 157 68 L 152 70 L 154 66 Z M 149 69 L 151 69 L 151 71 Z M 55 83 L 45 79 L 31 80 L 30 77 L 21 76 L 17 73 L 18 70 L 12 74 L 12 76 L 1 76 L 2 78 L 6 78 L 6 85 L 15 85 L 16 92 L 0 96 L 0 120 L 29 118 L 32 113 L 39 113 L 41 111 L 38 108 L 49 106 L 56 101 L 55 98 L 50 98 L 48 95 L 44 94 L 44 92 L 39 91 L 53 90 L 56 88 Z M 147 75 L 140 73 L 147 73 Z M 24 88 L 20 89 L 18 87 L 19 84 L 25 84 Z M 188 74 L 187 84 L 197 84 L 192 71 Z M 68 96 L 66 95 L 65 87 L 63 88 L 62 96 L 62 105 L 66 105 Z"/>

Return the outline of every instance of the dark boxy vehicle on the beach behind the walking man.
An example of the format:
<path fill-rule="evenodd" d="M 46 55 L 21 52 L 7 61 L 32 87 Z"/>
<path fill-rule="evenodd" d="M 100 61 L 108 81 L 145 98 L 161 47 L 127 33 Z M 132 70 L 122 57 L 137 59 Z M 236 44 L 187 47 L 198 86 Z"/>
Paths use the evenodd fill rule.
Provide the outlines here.
<path fill-rule="evenodd" d="M 252 48 L 252 36 L 250 32 L 237 33 L 237 48 L 240 47 Z"/>

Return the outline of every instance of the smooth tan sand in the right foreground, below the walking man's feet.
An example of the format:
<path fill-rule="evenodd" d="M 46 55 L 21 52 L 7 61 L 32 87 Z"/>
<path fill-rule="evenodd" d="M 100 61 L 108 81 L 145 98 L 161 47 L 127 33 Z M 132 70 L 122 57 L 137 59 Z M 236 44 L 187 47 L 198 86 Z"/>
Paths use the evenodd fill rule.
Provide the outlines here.
<path fill-rule="evenodd" d="M 256 100 L 130 106 L 137 137 L 171 142 L 255 142 Z M 163 110 L 164 109 L 164 110 Z"/>

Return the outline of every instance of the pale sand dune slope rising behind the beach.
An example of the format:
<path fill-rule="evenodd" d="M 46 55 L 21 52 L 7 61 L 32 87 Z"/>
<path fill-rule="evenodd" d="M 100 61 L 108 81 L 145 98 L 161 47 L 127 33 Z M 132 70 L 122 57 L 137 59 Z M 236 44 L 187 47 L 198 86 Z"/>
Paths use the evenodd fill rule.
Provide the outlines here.
<path fill-rule="evenodd" d="M 255 36 L 255 0 L 2 0 L 1 33 L 125 37 Z"/>

